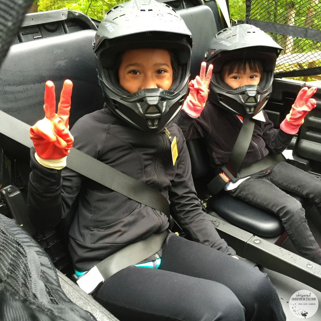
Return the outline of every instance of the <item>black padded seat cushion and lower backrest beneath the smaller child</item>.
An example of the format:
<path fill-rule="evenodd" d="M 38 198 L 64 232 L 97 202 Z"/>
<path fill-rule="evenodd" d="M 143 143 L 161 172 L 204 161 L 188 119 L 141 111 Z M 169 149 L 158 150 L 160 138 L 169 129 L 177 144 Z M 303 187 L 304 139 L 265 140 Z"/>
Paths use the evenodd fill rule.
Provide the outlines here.
<path fill-rule="evenodd" d="M 210 161 L 204 140 L 190 139 L 187 141 L 187 147 L 191 157 L 193 178 L 198 181 L 203 180 L 203 185 L 206 186 L 214 174 L 209 176 L 211 175 L 209 174 L 211 172 Z M 305 198 L 288 194 L 296 198 L 302 207 L 307 204 Z M 281 220 L 275 214 L 232 197 L 224 190 L 212 196 L 211 202 L 209 210 L 215 211 L 231 223 L 255 235 L 275 237 L 284 231 Z"/>

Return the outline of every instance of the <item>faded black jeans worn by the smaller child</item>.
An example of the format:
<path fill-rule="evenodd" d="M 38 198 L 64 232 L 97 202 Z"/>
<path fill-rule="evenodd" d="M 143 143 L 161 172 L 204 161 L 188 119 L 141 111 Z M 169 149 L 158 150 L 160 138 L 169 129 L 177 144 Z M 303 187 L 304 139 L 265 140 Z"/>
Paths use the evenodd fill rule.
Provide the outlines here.
<path fill-rule="evenodd" d="M 321 179 L 285 161 L 248 178 L 229 193 L 275 213 L 299 254 L 321 265 L 321 249 L 308 227 L 304 209 L 283 191 L 308 198 L 321 214 Z"/>

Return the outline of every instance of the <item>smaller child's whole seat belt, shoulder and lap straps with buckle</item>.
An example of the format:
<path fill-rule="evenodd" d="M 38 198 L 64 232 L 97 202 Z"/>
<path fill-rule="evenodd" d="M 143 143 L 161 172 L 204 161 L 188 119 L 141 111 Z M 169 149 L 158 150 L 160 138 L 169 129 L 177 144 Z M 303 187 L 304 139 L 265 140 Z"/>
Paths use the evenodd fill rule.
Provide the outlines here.
<path fill-rule="evenodd" d="M 222 172 L 216 175 L 207 185 L 207 188 L 214 195 L 221 191 L 230 181 L 235 183 L 242 177 L 254 174 L 285 160 L 282 154 L 267 155 L 261 160 L 242 168 L 243 160 L 251 143 L 254 125 L 253 118 L 243 119 L 241 130 L 226 165 L 222 166 Z"/>

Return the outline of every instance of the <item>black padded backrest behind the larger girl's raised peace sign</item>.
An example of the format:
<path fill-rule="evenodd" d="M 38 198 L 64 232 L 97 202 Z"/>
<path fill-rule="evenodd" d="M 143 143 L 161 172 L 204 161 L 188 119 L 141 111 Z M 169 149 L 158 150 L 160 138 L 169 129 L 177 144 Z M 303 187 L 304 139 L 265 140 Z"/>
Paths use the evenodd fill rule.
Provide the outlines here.
<path fill-rule="evenodd" d="M 74 83 L 71 126 L 101 108 L 103 97 L 91 46 L 94 35 L 94 30 L 82 30 L 13 45 L 1 68 L 0 109 L 33 125 L 44 117 L 44 89 L 49 79 L 56 92 L 65 79 Z"/>

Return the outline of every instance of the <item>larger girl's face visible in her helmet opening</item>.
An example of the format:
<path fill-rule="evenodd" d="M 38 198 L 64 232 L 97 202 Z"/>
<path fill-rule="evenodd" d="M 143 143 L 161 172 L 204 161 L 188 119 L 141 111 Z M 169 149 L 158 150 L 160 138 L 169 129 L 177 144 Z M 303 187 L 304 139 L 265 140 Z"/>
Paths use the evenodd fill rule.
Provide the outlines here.
<path fill-rule="evenodd" d="M 141 89 L 168 90 L 173 82 L 173 68 L 167 50 L 143 48 L 124 52 L 118 69 L 119 84 L 129 93 Z"/>

